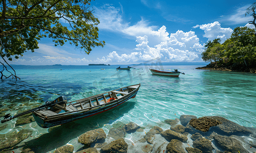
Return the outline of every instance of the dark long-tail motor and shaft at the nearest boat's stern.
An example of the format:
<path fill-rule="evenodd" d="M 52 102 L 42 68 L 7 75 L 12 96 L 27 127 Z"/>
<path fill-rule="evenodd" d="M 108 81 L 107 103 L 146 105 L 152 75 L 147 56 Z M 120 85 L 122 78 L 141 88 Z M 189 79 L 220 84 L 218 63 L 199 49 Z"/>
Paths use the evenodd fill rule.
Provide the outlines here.
<path fill-rule="evenodd" d="M 34 108 L 32 110 L 20 113 L 18 115 L 11 116 L 10 114 L 6 114 L 4 116 L 4 119 L 1 120 L 1 123 L 7 122 L 9 120 L 12 120 L 12 119 L 14 119 L 16 117 L 19 117 L 19 116 L 22 116 L 22 115 L 25 115 L 25 114 L 29 114 L 29 113 L 38 111 L 38 110 L 43 109 L 43 108 L 49 108 L 50 107 L 51 109 L 53 109 L 52 107 L 55 106 L 55 105 L 59 106 L 59 105 L 63 105 L 63 104 L 66 104 L 66 103 L 67 103 L 67 98 L 65 96 L 60 96 L 60 97 L 56 98 L 53 101 L 46 101 L 45 104 L 42 105 L 42 106 L 39 106 L 39 107 Z"/>

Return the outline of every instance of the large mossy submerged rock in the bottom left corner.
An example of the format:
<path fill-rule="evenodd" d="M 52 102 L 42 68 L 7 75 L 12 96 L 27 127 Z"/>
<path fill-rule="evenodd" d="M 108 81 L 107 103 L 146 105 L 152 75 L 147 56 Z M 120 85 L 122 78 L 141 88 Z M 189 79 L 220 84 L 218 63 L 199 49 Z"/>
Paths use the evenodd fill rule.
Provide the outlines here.
<path fill-rule="evenodd" d="M 19 132 L 12 131 L 7 134 L 1 134 L 0 135 L 0 150 L 6 149 L 6 148 L 12 148 L 13 146 L 17 145 L 21 141 L 28 138 L 33 131 L 22 129 Z"/>

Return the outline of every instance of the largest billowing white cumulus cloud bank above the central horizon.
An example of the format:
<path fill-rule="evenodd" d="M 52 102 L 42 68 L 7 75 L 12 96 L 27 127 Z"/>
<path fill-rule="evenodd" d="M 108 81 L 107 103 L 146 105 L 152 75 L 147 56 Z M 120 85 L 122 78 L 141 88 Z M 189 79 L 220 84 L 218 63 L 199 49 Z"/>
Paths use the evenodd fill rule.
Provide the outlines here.
<path fill-rule="evenodd" d="M 150 46 L 152 38 L 160 39 L 158 44 Z M 150 38 L 150 39 L 149 39 Z M 109 53 L 98 61 L 131 62 L 142 63 L 149 60 L 160 59 L 162 62 L 192 62 L 202 61 L 199 54 L 204 47 L 194 32 L 183 32 L 168 34 L 166 27 L 162 26 L 157 31 L 151 31 L 147 35 L 137 36 L 138 43 L 130 54 L 119 55 L 116 51 Z"/>

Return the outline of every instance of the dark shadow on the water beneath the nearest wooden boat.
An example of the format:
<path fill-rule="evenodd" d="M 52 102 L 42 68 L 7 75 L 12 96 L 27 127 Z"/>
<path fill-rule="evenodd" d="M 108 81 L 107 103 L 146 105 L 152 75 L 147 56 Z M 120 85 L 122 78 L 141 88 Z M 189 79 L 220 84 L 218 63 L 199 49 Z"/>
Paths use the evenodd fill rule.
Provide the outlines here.
<path fill-rule="evenodd" d="M 47 152 L 61 147 L 87 131 L 102 128 L 104 124 L 111 124 L 128 113 L 134 106 L 135 101 L 129 101 L 107 112 L 51 127 L 48 129 L 49 133 L 25 142 L 23 149 L 30 148 L 34 152 Z"/>

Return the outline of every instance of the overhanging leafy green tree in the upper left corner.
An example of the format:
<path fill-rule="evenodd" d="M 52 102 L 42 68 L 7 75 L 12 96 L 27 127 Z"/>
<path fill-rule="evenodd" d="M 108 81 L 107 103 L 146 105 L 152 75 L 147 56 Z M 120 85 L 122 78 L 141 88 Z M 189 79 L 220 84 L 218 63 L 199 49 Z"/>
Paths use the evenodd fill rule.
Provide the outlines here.
<path fill-rule="evenodd" d="M 12 60 L 23 56 L 27 50 L 38 47 L 38 40 L 51 38 L 57 45 L 69 42 L 90 54 L 92 47 L 104 46 L 98 40 L 99 20 L 90 8 L 91 0 L 0 0 L 0 55 Z M 2 76 L 18 78 L 16 74 Z M 7 63 L 8 64 L 8 63 Z M 9 65 L 9 64 L 8 64 Z M 10 65 L 9 65 L 10 66 Z M 13 69 L 14 70 L 14 69 Z M 14 71 L 15 72 L 15 71 Z"/>

